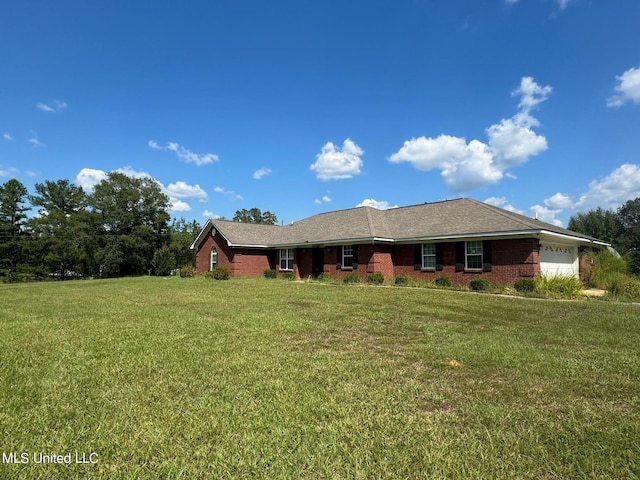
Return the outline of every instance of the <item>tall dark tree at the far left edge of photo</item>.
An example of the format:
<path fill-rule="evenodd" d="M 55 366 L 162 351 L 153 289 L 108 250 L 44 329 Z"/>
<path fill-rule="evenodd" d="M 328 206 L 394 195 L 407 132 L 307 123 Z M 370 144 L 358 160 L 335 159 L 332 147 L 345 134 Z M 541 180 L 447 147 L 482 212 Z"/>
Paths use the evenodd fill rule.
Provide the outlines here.
<path fill-rule="evenodd" d="M 0 267 L 5 270 L 9 281 L 23 259 L 25 245 L 24 224 L 27 206 L 27 188 L 12 178 L 0 185 Z"/>

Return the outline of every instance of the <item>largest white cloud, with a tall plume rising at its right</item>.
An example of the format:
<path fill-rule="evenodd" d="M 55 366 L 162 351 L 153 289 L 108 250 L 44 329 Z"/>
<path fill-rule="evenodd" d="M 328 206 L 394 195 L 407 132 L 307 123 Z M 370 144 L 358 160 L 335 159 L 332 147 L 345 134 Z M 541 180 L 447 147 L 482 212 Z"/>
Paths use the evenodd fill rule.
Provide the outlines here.
<path fill-rule="evenodd" d="M 404 142 L 402 148 L 389 157 L 392 163 L 409 162 L 418 170 L 440 170 L 447 187 L 456 193 L 476 190 L 512 176 L 505 173 L 511 167 L 525 163 L 530 157 L 548 148 L 547 140 L 531 127 L 539 122 L 531 110 L 544 102 L 551 87 L 538 85 L 533 78 L 523 77 L 512 95 L 520 96 L 519 111 L 509 119 L 487 128 L 488 144 L 440 135 L 419 137 Z"/>

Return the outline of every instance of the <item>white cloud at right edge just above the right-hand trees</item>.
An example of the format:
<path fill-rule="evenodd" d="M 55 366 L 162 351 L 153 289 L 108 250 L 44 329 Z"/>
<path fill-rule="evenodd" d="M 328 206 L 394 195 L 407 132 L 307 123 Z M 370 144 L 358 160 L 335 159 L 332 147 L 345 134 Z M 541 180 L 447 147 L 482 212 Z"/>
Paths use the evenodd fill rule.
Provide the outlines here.
<path fill-rule="evenodd" d="M 617 208 L 640 197 L 640 165 L 624 164 L 600 180 L 589 183 L 589 190 L 575 204 L 577 210 L 597 207 Z"/>

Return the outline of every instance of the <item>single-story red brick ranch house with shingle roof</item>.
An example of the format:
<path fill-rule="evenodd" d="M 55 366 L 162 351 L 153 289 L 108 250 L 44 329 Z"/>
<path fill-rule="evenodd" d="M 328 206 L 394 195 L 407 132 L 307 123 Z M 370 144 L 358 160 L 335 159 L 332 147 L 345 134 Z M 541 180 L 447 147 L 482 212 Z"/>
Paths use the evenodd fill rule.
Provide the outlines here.
<path fill-rule="evenodd" d="M 457 285 L 483 277 L 513 285 L 540 274 L 580 273 L 580 252 L 604 248 L 597 239 L 467 198 L 389 210 L 357 207 L 321 213 L 290 225 L 208 220 L 191 248 L 196 271 L 225 266 L 234 276 L 266 269 L 296 278 L 322 273 L 362 280 L 407 276 Z"/>

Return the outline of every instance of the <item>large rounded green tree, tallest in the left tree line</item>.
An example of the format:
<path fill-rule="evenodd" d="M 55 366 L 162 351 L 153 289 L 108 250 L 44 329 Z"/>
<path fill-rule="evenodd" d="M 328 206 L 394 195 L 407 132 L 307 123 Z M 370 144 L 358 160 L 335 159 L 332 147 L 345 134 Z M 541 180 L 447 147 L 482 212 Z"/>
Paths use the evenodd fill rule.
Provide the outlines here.
<path fill-rule="evenodd" d="M 140 275 L 166 242 L 169 197 L 152 178 L 118 172 L 95 186 L 89 205 L 99 224 L 96 259 L 101 276 Z"/>

